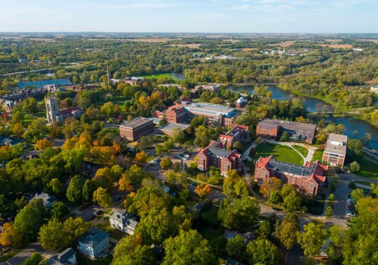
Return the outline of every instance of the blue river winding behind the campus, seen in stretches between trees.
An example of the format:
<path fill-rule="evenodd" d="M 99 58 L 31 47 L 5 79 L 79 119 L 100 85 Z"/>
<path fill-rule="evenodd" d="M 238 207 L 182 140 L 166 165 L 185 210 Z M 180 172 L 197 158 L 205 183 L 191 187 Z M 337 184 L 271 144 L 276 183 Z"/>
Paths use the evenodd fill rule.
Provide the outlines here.
<path fill-rule="evenodd" d="M 252 86 L 239 86 L 239 87 L 232 87 L 230 86 L 231 90 L 235 90 L 240 92 L 241 90 L 247 90 L 250 94 L 254 94 L 255 91 Z M 272 92 L 272 99 L 277 100 L 287 100 L 287 99 L 299 99 L 304 106 L 306 106 L 308 112 L 317 112 L 320 109 L 326 111 L 332 111 L 333 106 L 330 104 L 326 104 L 326 102 L 322 101 L 321 99 L 315 99 L 313 97 L 305 97 L 305 96 L 298 96 L 294 95 L 289 91 L 283 90 L 278 88 L 277 86 L 270 86 L 269 91 Z M 361 119 L 353 119 L 348 117 L 333 117 L 330 116 L 326 119 L 326 121 L 333 121 L 336 124 L 343 124 L 345 127 L 344 134 L 348 137 L 355 137 L 357 139 L 364 137 L 365 133 L 370 133 L 371 140 L 369 141 L 368 145 L 375 150 L 378 150 L 378 128 L 372 126 L 366 121 L 362 121 Z M 356 135 L 353 135 L 354 131 L 357 131 Z"/>

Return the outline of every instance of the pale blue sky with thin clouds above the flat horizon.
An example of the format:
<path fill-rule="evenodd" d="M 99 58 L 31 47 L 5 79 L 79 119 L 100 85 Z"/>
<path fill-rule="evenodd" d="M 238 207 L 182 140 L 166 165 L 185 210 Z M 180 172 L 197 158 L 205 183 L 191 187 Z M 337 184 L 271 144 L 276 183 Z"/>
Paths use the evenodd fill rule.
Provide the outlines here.
<path fill-rule="evenodd" d="M 377 32 L 377 0 L 0 0 L 0 32 Z"/>

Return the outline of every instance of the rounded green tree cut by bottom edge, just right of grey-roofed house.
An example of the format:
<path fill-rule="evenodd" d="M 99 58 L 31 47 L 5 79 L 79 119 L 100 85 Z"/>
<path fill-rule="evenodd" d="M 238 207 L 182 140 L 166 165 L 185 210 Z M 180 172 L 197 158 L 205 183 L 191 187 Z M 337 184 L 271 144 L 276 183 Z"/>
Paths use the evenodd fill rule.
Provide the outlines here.
<path fill-rule="evenodd" d="M 249 242 L 246 247 L 246 256 L 250 265 L 275 265 L 279 261 L 277 246 L 266 238 L 258 238 Z"/>

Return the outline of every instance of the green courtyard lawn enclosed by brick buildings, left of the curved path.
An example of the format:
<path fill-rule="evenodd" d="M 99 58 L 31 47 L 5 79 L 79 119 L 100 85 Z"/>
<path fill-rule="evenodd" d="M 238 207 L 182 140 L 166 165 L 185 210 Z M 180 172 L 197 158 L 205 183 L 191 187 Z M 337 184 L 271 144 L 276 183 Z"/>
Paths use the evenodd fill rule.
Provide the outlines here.
<path fill-rule="evenodd" d="M 255 153 L 253 154 L 253 157 L 255 159 L 259 159 L 260 156 L 268 157 L 270 155 L 274 155 L 275 158 L 280 161 L 297 165 L 304 164 L 304 160 L 297 152 L 295 152 L 295 150 L 292 150 L 292 148 L 290 148 L 289 146 L 281 146 L 280 144 L 259 144 L 255 148 Z"/>

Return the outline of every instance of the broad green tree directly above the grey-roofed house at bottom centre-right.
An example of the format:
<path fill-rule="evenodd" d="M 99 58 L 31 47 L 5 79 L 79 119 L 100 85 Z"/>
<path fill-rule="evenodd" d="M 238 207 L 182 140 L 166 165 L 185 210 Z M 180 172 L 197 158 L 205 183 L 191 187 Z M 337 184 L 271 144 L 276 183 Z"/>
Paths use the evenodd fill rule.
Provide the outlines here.
<path fill-rule="evenodd" d="M 223 199 L 218 211 L 222 225 L 230 230 L 252 226 L 259 215 L 260 207 L 256 199 L 246 196 L 241 199 Z"/>

